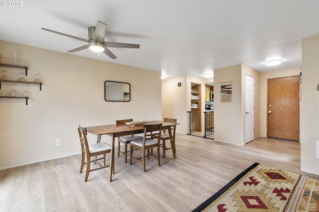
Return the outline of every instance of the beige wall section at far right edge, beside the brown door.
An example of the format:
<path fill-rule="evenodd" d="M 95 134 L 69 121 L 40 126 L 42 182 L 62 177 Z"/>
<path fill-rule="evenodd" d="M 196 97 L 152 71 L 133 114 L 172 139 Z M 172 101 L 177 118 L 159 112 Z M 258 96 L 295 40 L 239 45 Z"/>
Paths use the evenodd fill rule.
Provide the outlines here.
<path fill-rule="evenodd" d="M 319 36 L 304 39 L 301 90 L 301 170 L 319 175 L 316 141 L 319 140 Z"/>

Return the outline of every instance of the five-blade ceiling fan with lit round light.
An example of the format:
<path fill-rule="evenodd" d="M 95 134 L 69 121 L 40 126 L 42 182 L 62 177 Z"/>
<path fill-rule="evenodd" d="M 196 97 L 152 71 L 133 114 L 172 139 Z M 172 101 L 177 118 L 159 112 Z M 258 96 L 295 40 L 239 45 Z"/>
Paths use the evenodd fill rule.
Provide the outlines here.
<path fill-rule="evenodd" d="M 114 43 L 114 42 L 106 42 L 104 41 L 104 36 L 106 33 L 106 24 L 102 23 L 101 21 L 98 21 L 96 26 L 90 26 L 89 27 L 89 40 L 78 38 L 72 35 L 67 35 L 61 32 L 56 32 L 50 29 L 41 28 L 42 30 L 53 32 L 59 35 L 63 35 L 69 38 L 74 38 L 76 40 L 84 41 L 89 44 L 85 46 L 81 46 L 76 49 L 72 49 L 68 52 L 77 52 L 84 49 L 91 49 L 94 52 L 103 52 L 107 56 L 109 56 L 112 59 L 116 59 L 117 57 L 108 49 L 108 47 L 114 47 L 114 48 L 134 48 L 139 49 L 139 44 L 128 44 L 128 43 Z"/>

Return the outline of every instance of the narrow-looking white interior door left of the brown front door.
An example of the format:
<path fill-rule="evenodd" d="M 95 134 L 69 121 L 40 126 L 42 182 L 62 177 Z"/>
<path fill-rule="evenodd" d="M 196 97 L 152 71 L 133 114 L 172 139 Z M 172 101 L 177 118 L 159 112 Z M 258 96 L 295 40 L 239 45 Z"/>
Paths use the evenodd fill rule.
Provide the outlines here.
<path fill-rule="evenodd" d="M 254 77 L 245 75 L 245 140 L 246 143 L 254 140 Z"/>

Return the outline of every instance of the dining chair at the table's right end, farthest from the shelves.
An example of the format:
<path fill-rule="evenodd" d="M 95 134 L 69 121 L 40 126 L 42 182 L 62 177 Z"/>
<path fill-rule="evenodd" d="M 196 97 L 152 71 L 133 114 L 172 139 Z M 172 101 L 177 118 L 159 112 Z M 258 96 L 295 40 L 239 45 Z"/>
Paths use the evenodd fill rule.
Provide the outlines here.
<path fill-rule="evenodd" d="M 164 122 L 173 122 L 177 123 L 177 119 L 169 119 L 169 118 L 164 118 Z M 176 147 L 175 147 L 175 131 L 176 131 L 176 125 L 171 125 L 169 127 L 170 132 L 171 132 L 171 137 L 169 136 L 169 133 L 166 133 L 166 129 L 163 130 L 163 133 L 160 135 L 160 147 L 163 148 L 163 157 L 165 157 L 165 151 L 168 149 L 171 149 L 173 151 L 173 156 L 174 159 L 176 158 L 175 153 L 176 153 Z M 171 140 L 170 140 L 171 139 Z M 165 141 L 170 140 L 170 147 L 167 147 L 165 144 Z"/>

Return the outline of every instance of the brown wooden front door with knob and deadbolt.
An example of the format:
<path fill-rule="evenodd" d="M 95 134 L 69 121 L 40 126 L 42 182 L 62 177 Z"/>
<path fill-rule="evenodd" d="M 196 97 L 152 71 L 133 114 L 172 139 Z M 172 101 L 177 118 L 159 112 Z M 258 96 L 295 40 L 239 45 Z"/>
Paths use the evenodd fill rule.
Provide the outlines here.
<path fill-rule="evenodd" d="M 299 141 L 299 76 L 268 79 L 268 138 Z"/>

